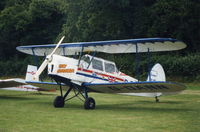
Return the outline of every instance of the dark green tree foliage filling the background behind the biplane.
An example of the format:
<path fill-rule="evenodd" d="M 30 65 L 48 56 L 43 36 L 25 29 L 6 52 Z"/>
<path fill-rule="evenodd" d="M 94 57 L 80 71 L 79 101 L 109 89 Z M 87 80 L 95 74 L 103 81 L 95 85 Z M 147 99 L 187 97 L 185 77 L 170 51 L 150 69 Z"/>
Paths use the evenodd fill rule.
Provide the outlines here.
<path fill-rule="evenodd" d="M 17 46 L 54 43 L 62 35 L 65 42 L 172 37 L 187 43 L 185 55 L 158 55 L 156 59 L 167 74 L 196 78 L 199 54 L 190 53 L 200 52 L 199 12 L 197 0 L 1 0 L 0 67 L 13 60 L 17 65 L 18 59 L 26 57 L 16 51 Z M 124 72 L 133 74 L 134 57 L 117 58 Z M 141 62 L 142 76 L 145 64 Z M 1 70 L 0 74 L 13 71 Z"/>

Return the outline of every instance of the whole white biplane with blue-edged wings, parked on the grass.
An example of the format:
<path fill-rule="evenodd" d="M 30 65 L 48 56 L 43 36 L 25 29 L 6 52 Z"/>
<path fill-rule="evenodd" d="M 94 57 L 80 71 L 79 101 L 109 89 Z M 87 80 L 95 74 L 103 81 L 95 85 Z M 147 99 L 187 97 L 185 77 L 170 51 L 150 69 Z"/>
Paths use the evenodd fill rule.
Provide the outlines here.
<path fill-rule="evenodd" d="M 181 50 L 186 47 L 182 41 L 172 38 L 142 38 L 127 40 L 110 40 L 95 42 L 62 43 L 58 44 L 18 46 L 20 52 L 45 56 L 44 62 L 37 69 L 30 72 L 26 81 L 35 86 L 59 85 L 60 96 L 53 102 L 54 107 L 64 107 L 65 101 L 79 97 L 84 101 L 85 109 L 95 109 L 96 103 L 89 92 L 116 93 L 123 95 L 136 95 L 158 97 L 161 95 L 176 94 L 186 87 L 182 84 L 166 81 L 165 72 L 160 64 L 155 64 L 149 70 L 146 81 L 120 72 L 112 61 L 96 57 L 96 52 L 107 54 L 117 53 L 151 53 L 162 51 Z M 84 54 L 92 52 L 92 55 Z M 79 58 L 72 56 L 79 55 Z M 30 67 L 30 65 L 29 65 Z M 48 76 L 55 82 L 40 81 L 40 75 L 47 67 Z M 66 92 L 63 93 L 66 86 Z M 69 96 L 70 92 L 74 96 Z"/>

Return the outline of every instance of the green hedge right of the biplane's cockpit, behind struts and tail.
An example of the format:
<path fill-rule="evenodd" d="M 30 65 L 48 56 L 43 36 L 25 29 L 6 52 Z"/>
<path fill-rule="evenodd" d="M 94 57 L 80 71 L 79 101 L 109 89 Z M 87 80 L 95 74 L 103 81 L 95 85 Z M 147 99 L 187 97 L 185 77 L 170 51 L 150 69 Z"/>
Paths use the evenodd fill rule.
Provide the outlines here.
<path fill-rule="evenodd" d="M 135 54 L 111 55 L 106 58 L 115 61 L 122 72 L 136 77 Z M 200 53 L 152 53 L 150 58 L 150 67 L 156 63 L 160 63 L 165 70 L 167 79 L 169 80 L 176 79 L 186 82 L 200 81 Z M 147 53 L 140 54 L 139 60 L 140 79 L 146 80 L 149 68 Z"/>

